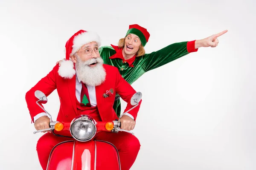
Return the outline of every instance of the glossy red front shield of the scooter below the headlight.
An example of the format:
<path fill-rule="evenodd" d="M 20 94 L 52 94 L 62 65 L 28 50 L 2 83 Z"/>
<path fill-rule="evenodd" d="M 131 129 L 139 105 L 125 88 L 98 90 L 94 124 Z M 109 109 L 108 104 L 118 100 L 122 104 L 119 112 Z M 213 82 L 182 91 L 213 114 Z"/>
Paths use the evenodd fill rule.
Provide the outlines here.
<path fill-rule="evenodd" d="M 116 147 L 104 141 L 67 141 L 57 144 L 47 170 L 120 170 Z"/>

